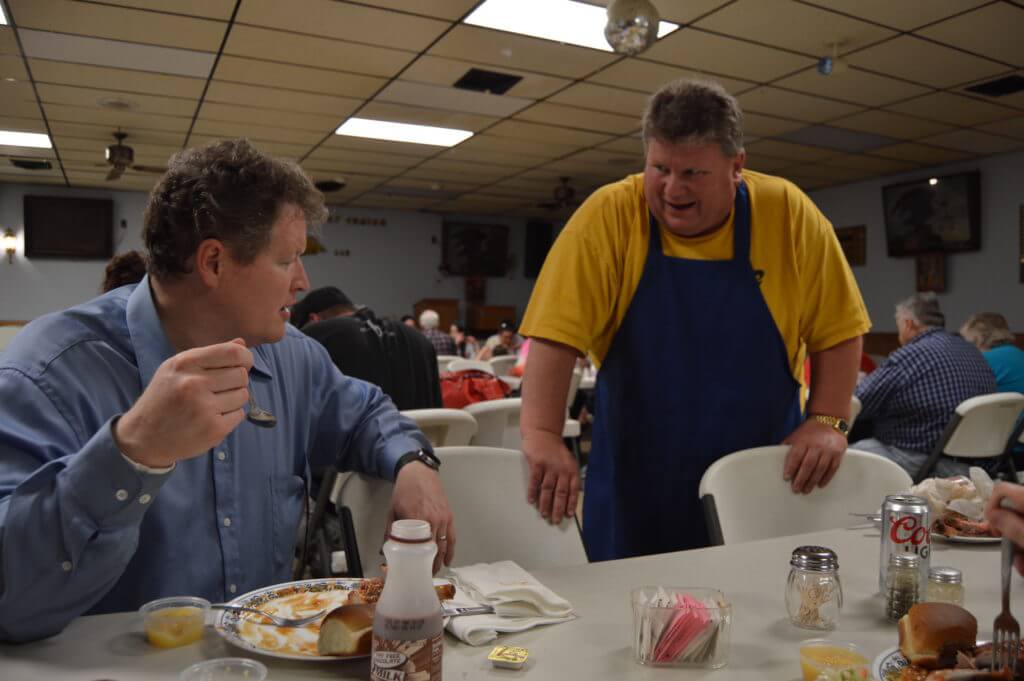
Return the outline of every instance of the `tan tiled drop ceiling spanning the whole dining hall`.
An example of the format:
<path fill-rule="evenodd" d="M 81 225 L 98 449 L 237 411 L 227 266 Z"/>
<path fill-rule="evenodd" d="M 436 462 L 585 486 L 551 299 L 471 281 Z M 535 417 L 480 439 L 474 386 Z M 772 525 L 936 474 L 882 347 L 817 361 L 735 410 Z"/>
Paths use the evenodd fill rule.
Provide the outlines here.
<path fill-rule="evenodd" d="M 1017 1 L 654 0 L 683 28 L 640 57 L 467 26 L 477 0 L 0 2 L 0 129 L 54 142 L 0 148 L 2 182 L 148 189 L 156 174 L 104 179 L 121 128 L 139 165 L 246 136 L 344 177 L 332 204 L 550 215 L 538 204 L 560 176 L 585 196 L 638 170 L 646 97 L 691 75 L 738 97 L 748 165 L 805 189 L 1024 147 L 1024 92 L 965 90 L 1024 69 Z M 835 42 L 849 69 L 823 77 Z M 474 67 L 522 80 L 452 87 Z M 453 148 L 334 135 L 353 115 L 476 134 Z"/>

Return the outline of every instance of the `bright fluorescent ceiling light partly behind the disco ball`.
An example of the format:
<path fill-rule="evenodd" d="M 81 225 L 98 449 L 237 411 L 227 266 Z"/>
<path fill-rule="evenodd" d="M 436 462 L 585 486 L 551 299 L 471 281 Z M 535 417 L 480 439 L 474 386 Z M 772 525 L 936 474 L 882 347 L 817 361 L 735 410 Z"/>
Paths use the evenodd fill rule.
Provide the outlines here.
<path fill-rule="evenodd" d="M 604 39 L 607 10 L 574 0 L 486 0 L 465 22 L 472 26 L 612 51 L 611 45 Z M 657 37 L 664 38 L 678 28 L 678 24 L 660 22 Z"/>

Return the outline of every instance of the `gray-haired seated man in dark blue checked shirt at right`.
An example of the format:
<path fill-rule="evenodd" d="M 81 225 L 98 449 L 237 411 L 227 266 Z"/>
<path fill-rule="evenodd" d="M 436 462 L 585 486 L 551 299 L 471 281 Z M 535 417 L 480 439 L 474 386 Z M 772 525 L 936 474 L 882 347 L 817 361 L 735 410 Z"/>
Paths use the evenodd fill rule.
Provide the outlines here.
<path fill-rule="evenodd" d="M 945 323 L 935 294 L 916 294 L 896 305 L 901 347 L 854 392 L 863 405 L 860 418 L 873 420 L 873 437 L 851 449 L 881 454 L 915 475 L 956 406 L 995 391 L 995 377 L 981 352 L 947 332 Z M 934 474 L 967 475 L 983 461 L 943 456 Z"/>

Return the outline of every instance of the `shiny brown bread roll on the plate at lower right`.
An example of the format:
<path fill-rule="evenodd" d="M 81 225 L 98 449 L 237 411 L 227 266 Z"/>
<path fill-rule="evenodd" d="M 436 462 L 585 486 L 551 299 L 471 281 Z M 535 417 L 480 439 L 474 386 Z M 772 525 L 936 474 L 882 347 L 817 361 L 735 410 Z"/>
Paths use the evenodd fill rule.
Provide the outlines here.
<path fill-rule="evenodd" d="M 952 603 L 918 603 L 899 621 L 899 651 L 924 669 L 951 667 L 956 653 L 974 650 L 978 621 Z"/>

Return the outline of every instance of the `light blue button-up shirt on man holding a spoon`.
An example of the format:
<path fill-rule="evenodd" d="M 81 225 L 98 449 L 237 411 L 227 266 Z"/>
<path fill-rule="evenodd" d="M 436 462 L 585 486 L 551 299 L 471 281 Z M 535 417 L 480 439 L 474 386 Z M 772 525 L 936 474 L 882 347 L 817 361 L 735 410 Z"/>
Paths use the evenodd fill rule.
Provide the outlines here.
<path fill-rule="evenodd" d="M 0 353 L 0 639 L 285 582 L 310 466 L 392 479 L 402 454 L 430 446 L 379 388 L 288 327 L 253 348 L 250 373 L 276 427 L 244 421 L 172 471 L 142 472 L 111 424 L 173 353 L 148 280 L 43 316 Z"/>

